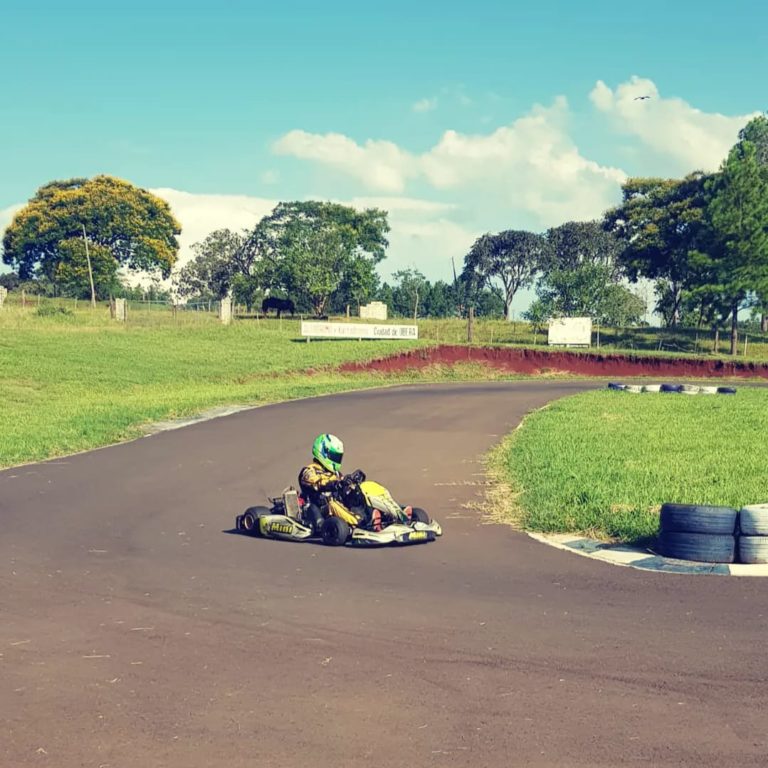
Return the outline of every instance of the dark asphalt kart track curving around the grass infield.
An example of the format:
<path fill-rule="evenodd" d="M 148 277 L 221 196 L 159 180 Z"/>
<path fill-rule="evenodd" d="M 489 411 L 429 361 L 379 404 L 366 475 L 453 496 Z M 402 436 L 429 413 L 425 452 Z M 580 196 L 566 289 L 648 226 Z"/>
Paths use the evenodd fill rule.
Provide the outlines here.
<path fill-rule="evenodd" d="M 489 446 L 589 386 L 354 393 L 0 473 L 0 765 L 766 765 L 762 579 L 615 568 L 465 506 Z M 444 537 L 227 532 L 327 430 Z"/>

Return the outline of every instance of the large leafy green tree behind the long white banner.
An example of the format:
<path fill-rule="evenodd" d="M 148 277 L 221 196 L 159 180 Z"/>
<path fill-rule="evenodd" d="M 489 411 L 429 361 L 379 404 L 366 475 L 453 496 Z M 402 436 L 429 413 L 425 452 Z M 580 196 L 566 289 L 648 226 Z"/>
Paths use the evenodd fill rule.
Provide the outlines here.
<path fill-rule="evenodd" d="M 285 292 L 321 315 L 340 293 L 357 302 L 376 289 L 373 268 L 385 256 L 387 214 L 336 203 L 280 203 L 242 252 L 265 288 Z"/>

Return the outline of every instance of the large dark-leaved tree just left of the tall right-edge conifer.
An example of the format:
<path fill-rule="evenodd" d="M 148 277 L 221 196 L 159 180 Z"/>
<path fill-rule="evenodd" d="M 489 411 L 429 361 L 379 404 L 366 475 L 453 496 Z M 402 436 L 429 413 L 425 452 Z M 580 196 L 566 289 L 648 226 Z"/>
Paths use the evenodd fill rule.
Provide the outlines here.
<path fill-rule="evenodd" d="M 629 179 L 622 204 L 603 220 L 621 241 L 619 263 L 630 280 L 645 277 L 663 286 L 668 326 L 678 324 L 683 293 L 695 284 L 689 259 L 702 247 L 708 179 L 698 172 L 682 180 Z"/>

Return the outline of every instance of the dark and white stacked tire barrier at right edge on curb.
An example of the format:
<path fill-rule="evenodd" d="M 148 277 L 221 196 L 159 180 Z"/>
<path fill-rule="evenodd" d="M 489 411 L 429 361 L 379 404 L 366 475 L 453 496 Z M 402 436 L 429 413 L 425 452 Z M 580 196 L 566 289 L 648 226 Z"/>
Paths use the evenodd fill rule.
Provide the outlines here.
<path fill-rule="evenodd" d="M 768 564 L 768 504 L 663 504 L 655 551 L 700 563 Z"/>

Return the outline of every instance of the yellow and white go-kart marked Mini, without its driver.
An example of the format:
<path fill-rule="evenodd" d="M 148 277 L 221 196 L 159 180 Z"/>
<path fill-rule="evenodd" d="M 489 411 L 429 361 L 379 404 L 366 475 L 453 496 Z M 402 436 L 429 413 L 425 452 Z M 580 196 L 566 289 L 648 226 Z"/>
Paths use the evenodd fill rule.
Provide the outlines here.
<path fill-rule="evenodd" d="M 320 538 L 332 547 L 424 544 L 443 533 L 423 509 L 402 507 L 383 485 L 366 480 L 360 470 L 324 493 L 322 505 L 303 499 L 293 487 L 269 502 L 269 507 L 249 507 L 237 515 L 235 528 L 272 539 Z"/>

